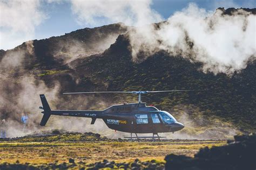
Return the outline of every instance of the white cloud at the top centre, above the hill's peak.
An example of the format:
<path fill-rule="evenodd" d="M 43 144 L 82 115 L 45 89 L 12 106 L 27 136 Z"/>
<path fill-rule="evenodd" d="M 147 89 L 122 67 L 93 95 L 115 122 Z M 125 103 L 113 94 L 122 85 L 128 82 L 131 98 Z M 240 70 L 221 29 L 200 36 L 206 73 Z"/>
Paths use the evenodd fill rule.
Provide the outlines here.
<path fill-rule="evenodd" d="M 151 9 L 151 3 L 150 0 L 71 0 L 78 22 L 92 27 L 118 22 L 134 26 L 159 22 L 162 18 Z"/>

